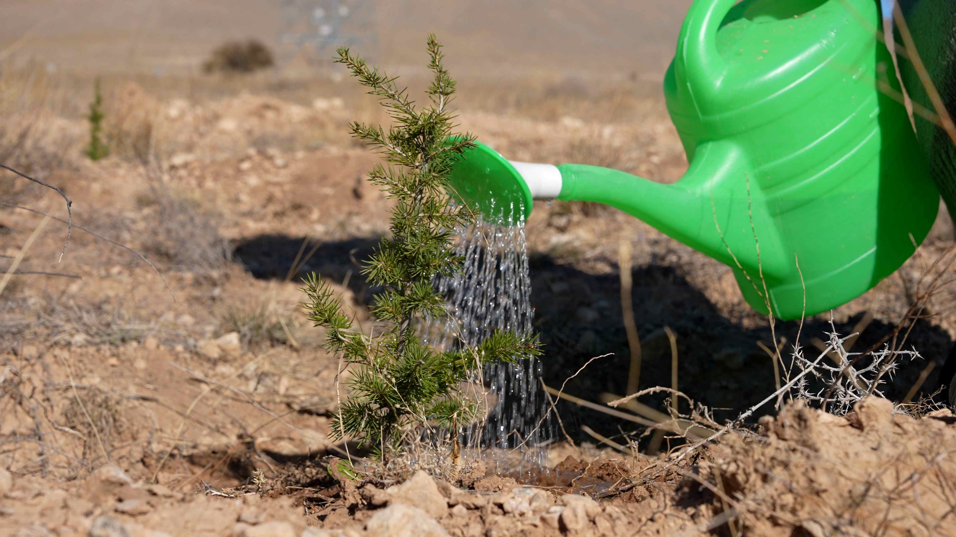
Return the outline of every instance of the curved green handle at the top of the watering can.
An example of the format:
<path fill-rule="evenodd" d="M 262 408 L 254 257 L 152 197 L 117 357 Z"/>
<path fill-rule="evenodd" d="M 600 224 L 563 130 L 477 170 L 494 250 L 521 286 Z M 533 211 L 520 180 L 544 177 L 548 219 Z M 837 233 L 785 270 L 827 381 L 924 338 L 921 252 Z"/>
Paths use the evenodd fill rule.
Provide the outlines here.
<path fill-rule="evenodd" d="M 727 72 L 727 62 L 717 52 L 717 30 L 736 3 L 737 0 L 696 0 L 684 18 L 675 75 L 686 81 L 698 106 L 716 97 Z"/>

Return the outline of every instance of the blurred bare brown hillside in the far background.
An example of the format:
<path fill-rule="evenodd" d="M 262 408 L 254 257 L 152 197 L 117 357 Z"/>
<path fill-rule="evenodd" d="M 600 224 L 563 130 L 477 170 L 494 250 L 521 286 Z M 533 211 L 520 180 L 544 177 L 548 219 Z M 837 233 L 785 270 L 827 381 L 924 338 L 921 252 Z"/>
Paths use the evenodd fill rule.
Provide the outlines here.
<path fill-rule="evenodd" d="M 253 37 L 276 51 L 282 67 L 295 70 L 308 65 L 307 54 L 294 57 L 288 40 L 311 30 L 337 43 L 353 41 L 385 66 L 422 65 L 424 33 L 436 32 L 447 48 L 449 68 L 463 80 L 554 72 L 634 73 L 660 80 L 689 4 L 5 0 L 0 54 L 49 61 L 51 69 L 184 75 L 198 71 L 210 49 L 224 40 Z M 324 57 L 332 52 L 324 51 Z"/>

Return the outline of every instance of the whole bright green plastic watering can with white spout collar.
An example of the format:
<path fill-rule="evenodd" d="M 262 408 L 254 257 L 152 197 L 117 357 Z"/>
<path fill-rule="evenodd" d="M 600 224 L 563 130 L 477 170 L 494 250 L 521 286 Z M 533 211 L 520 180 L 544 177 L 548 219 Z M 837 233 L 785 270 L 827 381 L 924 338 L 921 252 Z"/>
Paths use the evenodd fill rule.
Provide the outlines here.
<path fill-rule="evenodd" d="M 452 169 L 454 195 L 503 224 L 532 200 L 615 206 L 727 264 L 750 306 L 781 319 L 872 289 L 923 241 L 940 200 L 905 108 L 878 89 L 899 92 L 875 34 L 880 3 L 734 4 L 694 2 L 664 78 L 690 162 L 680 181 L 507 161 L 478 144 Z"/>

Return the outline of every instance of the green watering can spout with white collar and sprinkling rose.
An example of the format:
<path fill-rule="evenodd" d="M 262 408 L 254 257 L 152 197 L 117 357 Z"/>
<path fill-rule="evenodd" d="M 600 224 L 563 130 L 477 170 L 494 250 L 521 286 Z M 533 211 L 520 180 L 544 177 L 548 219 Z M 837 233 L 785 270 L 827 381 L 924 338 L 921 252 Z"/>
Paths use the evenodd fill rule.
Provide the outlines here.
<path fill-rule="evenodd" d="M 772 286 L 793 270 L 760 186 L 750 181 L 747 156 L 732 142 L 699 145 L 684 178 L 673 184 L 588 164 L 506 161 L 475 145 L 453 167 L 450 182 L 454 195 L 486 221 L 520 224 L 534 200 L 595 202 L 727 264 L 740 281 L 762 278 Z M 755 300 L 757 308 L 766 304 L 762 296 Z"/>

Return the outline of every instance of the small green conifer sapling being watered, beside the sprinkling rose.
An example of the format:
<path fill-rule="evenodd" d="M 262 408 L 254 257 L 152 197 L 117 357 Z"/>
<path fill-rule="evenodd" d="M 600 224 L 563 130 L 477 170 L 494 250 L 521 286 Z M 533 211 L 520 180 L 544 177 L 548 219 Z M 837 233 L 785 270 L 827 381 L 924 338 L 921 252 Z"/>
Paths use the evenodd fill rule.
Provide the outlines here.
<path fill-rule="evenodd" d="M 334 291 L 315 273 L 302 289 L 302 306 L 317 327 L 326 330 L 324 346 L 349 365 L 348 395 L 332 421 L 338 439 L 352 438 L 372 447 L 381 459 L 402 451 L 412 435 L 450 432 L 451 458 L 457 463 L 461 429 L 479 417 L 476 397 L 467 397 L 463 382 L 488 363 L 516 362 L 540 354 L 537 337 L 507 331 L 492 333 L 474 347 L 459 346 L 439 352 L 416 331 L 423 316 L 447 315 L 445 301 L 435 289 L 435 277 L 463 269 L 464 257 L 452 249 L 454 230 L 474 222 L 462 204 L 448 192 L 451 165 L 474 147 L 474 137 L 452 135 L 455 128 L 449 103 L 455 81 L 443 66 L 444 54 L 428 36 L 429 70 L 434 75 L 427 90 L 430 104 L 418 109 L 396 85 L 396 78 L 369 67 L 349 49 L 337 49 L 344 64 L 368 94 L 379 97 L 393 126 L 353 122 L 353 137 L 371 145 L 386 164 L 368 174 L 395 200 L 389 236 L 380 240 L 362 273 L 384 290 L 375 298 L 372 316 L 386 326 L 362 333 L 345 312 Z"/>

